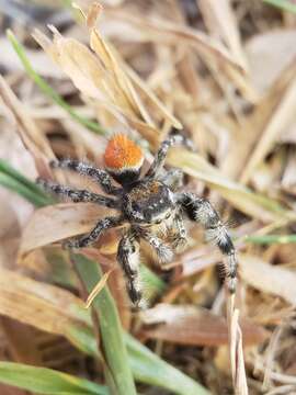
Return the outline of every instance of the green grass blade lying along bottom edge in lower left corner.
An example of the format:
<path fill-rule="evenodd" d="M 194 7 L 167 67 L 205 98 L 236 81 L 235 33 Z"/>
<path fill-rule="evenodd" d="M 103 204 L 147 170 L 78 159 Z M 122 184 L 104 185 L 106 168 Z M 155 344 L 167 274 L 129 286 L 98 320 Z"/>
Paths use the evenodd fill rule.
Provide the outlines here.
<path fill-rule="evenodd" d="M 48 395 L 109 395 L 105 386 L 52 369 L 0 362 L 0 382 Z"/>

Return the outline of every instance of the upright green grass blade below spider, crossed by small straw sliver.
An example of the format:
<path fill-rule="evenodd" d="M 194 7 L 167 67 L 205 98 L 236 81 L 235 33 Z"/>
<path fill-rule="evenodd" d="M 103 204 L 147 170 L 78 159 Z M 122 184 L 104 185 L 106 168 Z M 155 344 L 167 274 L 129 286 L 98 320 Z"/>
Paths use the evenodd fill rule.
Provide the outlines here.
<path fill-rule="evenodd" d="M 91 292 L 102 278 L 100 266 L 81 255 L 72 253 L 71 258 L 88 292 Z M 99 315 L 104 357 L 116 386 L 116 394 L 136 395 L 119 317 L 107 286 L 101 290 L 92 305 Z"/>

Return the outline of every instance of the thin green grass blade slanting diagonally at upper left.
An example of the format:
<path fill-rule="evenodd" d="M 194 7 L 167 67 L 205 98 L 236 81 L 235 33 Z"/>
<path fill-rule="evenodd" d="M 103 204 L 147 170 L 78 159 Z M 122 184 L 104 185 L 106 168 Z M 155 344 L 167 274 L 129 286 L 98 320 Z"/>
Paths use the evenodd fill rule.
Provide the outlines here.
<path fill-rule="evenodd" d="M 62 108 L 67 113 L 81 125 L 88 127 L 90 131 L 95 132 L 101 135 L 107 135 L 107 132 L 99 125 L 96 122 L 90 121 L 84 116 L 78 114 L 71 105 L 69 105 L 32 67 L 29 58 L 25 55 L 25 50 L 21 43 L 16 40 L 14 34 L 9 30 L 8 38 L 11 42 L 13 49 L 19 56 L 20 60 L 23 64 L 23 67 L 26 74 L 33 79 L 33 81 L 38 86 L 38 88 L 45 93 L 48 98 L 50 98 L 55 103 L 57 103 L 60 108 Z"/>

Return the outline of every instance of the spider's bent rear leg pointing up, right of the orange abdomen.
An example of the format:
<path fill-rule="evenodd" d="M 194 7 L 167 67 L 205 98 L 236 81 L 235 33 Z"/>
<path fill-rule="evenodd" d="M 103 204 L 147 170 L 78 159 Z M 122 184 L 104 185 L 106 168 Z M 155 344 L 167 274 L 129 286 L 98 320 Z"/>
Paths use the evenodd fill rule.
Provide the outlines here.
<path fill-rule="evenodd" d="M 169 148 L 177 144 L 183 144 L 186 147 L 189 147 L 190 149 L 192 149 L 192 143 L 185 136 L 183 136 L 181 134 L 170 135 L 166 140 L 163 140 L 161 143 L 160 148 L 157 151 L 155 160 L 153 160 L 150 169 L 148 170 L 146 177 L 155 178 L 159 174 L 159 172 L 161 171 L 161 169 L 164 165 Z"/>

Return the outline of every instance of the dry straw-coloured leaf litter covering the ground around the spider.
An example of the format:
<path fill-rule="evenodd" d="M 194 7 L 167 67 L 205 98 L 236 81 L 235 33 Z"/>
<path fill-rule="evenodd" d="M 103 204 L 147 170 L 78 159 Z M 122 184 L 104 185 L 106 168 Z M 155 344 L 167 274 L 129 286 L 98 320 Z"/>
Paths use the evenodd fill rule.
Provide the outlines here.
<path fill-rule="evenodd" d="M 235 304 L 220 292 L 223 285 L 213 270 L 221 259 L 219 253 L 205 247 L 203 234 L 192 228 L 190 250 L 175 257 L 169 275 L 151 266 L 167 282 L 164 293 L 143 313 L 124 306 L 126 316 L 135 318 L 132 324 L 128 318 L 125 327 L 143 342 L 150 340 L 153 352 L 160 352 L 214 394 L 261 394 L 263 383 L 266 393 L 291 393 L 295 385 L 291 372 L 296 363 L 295 346 L 291 346 L 295 244 L 289 242 L 292 237 L 266 245 L 257 244 L 255 238 L 270 234 L 274 240 L 276 236 L 284 240 L 295 233 L 296 84 L 291 47 L 295 19 L 269 4 L 230 0 L 221 1 L 219 7 L 214 1 L 197 5 L 185 0 L 104 1 L 103 8 L 94 3 L 90 12 L 86 3 L 79 2 L 78 9 L 83 8 L 80 14 L 86 15 L 87 27 L 78 19 L 65 29 L 53 15 L 47 31 L 41 31 L 37 23 L 34 32 L 34 26 L 19 26 L 22 34 L 18 38 L 27 46 L 25 53 L 35 70 L 65 101 L 91 114 L 107 133 L 126 131 L 140 144 L 147 140 L 152 153 L 171 127 L 183 127 L 198 143 L 197 153 L 174 148 L 169 165 L 185 172 L 186 189 L 213 199 L 225 216 L 239 218 L 231 230 L 239 249 Z M 35 7 L 38 9 L 38 2 Z M 18 21 L 12 18 L 12 30 L 15 25 Z M 33 44 L 29 31 L 42 48 Z M 83 40 L 77 38 L 81 36 Z M 8 46 L 3 31 L 0 42 Z M 11 55 L 1 65 L 2 129 L 18 132 L 39 176 L 87 183 L 71 173 L 53 174 L 48 161 L 60 153 L 65 157 L 75 153 L 101 166 L 106 136 L 92 137 L 84 125 L 73 124 L 69 113 L 55 113 L 49 98 L 29 80 Z M 69 80 L 73 87 L 68 88 L 67 95 L 61 82 Z M 0 142 L 1 153 L 10 149 L 2 135 Z M 62 149 L 58 142 L 62 142 Z M 145 147 L 147 150 L 147 143 Z M 19 160 L 22 163 L 22 157 Z M 34 181 L 35 170 L 27 176 Z M 5 192 L 4 196 L 13 194 Z M 18 223 L 13 244 L 2 234 L 9 224 L 16 224 L 15 213 L 21 208 L 18 202 L 11 200 L 9 210 L 1 205 L 1 215 L 7 211 L 1 251 L 2 246 L 8 248 L 0 255 L 0 313 L 71 341 L 68 329 L 77 324 L 73 306 L 82 312 L 84 302 L 73 295 L 73 289 L 47 284 L 49 272 L 45 275 L 32 268 L 38 262 L 41 268 L 50 264 L 48 255 L 39 252 L 53 242 L 58 251 L 61 240 L 88 232 L 106 212 L 91 204 L 72 203 L 35 210 L 30 219 Z M 114 262 L 119 232 L 100 241 L 98 251 L 89 249 L 88 255 Z M 243 242 L 246 236 L 253 244 Z M 145 263 L 149 261 L 145 257 Z M 35 278 L 30 279 L 33 273 Z M 65 273 L 73 276 L 67 258 Z M 95 295 L 106 282 L 122 276 L 110 267 L 104 273 Z M 77 287 L 76 282 L 71 284 Z M 119 292 L 116 286 L 122 287 Z M 111 289 L 121 303 L 123 279 Z M 92 302 L 92 295 L 88 302 Z M 79 326 L 89 325 L 86 317 Z M 16 347 L 21 340 L 10 341 Z M 229 353 L 224 351 L 228 342 Z M 83 354 L 77 358 L 84 360 Z M 221 369 L 229 362 L 231 370 Z M 62 369 L 71 366 L 65 362 Z M 102 373 L 98 366 L 95 371 Z M 147 387 L 140 390 L 145 393 Z"/>

